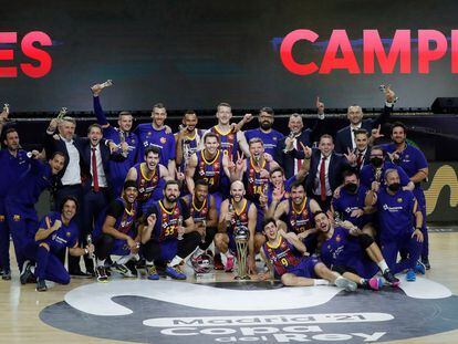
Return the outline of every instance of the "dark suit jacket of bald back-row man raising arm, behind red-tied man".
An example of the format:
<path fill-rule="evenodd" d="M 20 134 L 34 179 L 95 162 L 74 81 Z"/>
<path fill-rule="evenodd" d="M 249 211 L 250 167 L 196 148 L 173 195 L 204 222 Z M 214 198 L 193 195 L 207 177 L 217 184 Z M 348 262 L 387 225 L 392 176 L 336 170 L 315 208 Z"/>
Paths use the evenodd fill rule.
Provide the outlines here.
<path fill-rule="evenodd" d="M 313 129 L 306 128 L 302 131 L 301 135 L 298 137 L 298 140 L 303 143 L 304 146 L 311 147 L 312 144 L 324 134 L 326 125 L 326 119 L 318 119 Z M 285 140 L 288 136 L 284 136 L 275 147 L 274 160 L 284 169 L 284 176 L 291 178 L 294 176 L 294 159 L 303 159 L 304 153 L 299 146 L 299 150 L 292 149 L 289 153 L 284 153 Z"/>

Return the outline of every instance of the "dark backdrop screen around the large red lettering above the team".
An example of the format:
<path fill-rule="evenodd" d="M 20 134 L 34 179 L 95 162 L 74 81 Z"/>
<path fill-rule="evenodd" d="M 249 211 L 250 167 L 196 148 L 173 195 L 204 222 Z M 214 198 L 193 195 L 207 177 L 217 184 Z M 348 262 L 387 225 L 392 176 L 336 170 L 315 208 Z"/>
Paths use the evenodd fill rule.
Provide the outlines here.
<path fill-rule="evenodd" d="M 287 71 L 279 40 L 295 29 L 320 34 L 316 44 L 296 44 L 299 61 L 320 63 L 333 29 L 345 29 L 362 67 L 364 29 L 392 39 L 396 29 L 435 29 L 450 37 L 458 29 L 456 1 L 3 1 L 0 31 L 23 34 L 41 30 L 53 40 L 45 48 L 53 66 L 33 80 L 0 79 L 0 102 L 11 111 L 89 111 L 89 86 L 112 79 L 105 108 L 235 108 L 313 107 L 321 95 L 327 107 L 381 104 L 381 83 L 392 83 L 404 107 L 430 106 L 437 96 L 458 94 L 450 72 L 450 52 L 431 64 L 430 74 L 417 73 L 417 43 L 412 43 L 409 75 L 299 76 Z M 15 61 L 23 58 L 15 45 Z M 387 51 L 389 46 L 385 45 Z M 0 65 L 11 65 L 0 61 Z M 398 70 L 398 66 L 396 67 Z"/>

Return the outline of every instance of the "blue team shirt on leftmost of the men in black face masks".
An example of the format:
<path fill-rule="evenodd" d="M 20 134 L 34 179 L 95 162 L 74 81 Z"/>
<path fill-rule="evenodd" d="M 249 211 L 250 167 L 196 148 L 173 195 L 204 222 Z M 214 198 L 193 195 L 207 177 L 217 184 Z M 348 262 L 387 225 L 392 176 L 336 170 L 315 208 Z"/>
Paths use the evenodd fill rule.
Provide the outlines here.
<path fill-rule="evenodd" d="M 352 212 L 357 209 L 364 210 L 365 207 L 365 198 L 368 192 L 368 189 L 360 185 L 357 188 L 356 194 L 350 194 L 344 188 L 341 188 L 341 192 L 339 198 L 332 199 L 332 206 L 334 208 L 334 212 L 340 215 L 342 221 L 350 221 L 358 228 L 362 228 L 366 225 L 368 217 L 363 215 L 361 217 L 352 217 Z"/>

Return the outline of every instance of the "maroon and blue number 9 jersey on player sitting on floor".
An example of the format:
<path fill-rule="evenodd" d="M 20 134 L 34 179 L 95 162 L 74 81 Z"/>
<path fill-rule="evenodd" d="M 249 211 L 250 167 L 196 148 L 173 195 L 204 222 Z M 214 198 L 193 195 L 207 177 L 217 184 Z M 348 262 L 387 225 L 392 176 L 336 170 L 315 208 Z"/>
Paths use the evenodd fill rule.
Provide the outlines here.
<path fill-rule="evenodd" d="M 271 246 L 270 242 L 266 242 L 262 246 L 262 250 L 278 275 L 289 272 L 299 265 L 302 260 L 301 252 L 283 237 L 280 237 L 280 242 L 277 247 Z"/>

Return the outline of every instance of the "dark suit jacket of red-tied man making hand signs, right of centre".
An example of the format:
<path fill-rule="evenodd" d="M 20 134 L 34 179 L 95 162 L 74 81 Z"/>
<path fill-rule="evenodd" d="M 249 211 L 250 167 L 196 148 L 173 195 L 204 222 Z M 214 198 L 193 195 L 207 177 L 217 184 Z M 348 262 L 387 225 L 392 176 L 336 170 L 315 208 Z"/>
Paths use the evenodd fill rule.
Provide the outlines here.
<path fill-rule="evenodd" d="M 313 149 L 312 157 L 310 161 L 310 171 L 306 176 L 305 186 L 308 195 L 313 195 L 313 189 L 315 186 L 316 173 L 320 168 L 321 152 L 320 149 Z M 331 154 L 330 167 L 327 170 L 327 178 L 330 181 L 331 190 L 334 190 L 343 183 L 343 171 L 352 169 L 346 158 L 336 153 Z"/>

